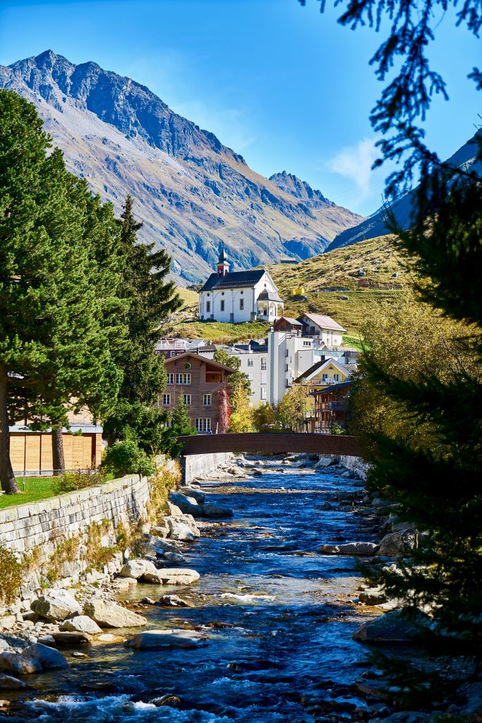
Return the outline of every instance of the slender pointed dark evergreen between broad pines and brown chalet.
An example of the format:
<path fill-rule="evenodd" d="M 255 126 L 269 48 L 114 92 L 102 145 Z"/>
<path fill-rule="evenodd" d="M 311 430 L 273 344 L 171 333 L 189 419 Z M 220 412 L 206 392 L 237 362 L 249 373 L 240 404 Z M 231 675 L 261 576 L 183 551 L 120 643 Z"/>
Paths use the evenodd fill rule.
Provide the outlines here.
<path fill-rule="evenodd" d="M 108 440 L 134 436 L 147 453 L 159 451 L 165 412 L 158 408 L 165 382 L 164 358 L 155 354 L 155 343 L 162 336 L 162 322 L 181 305 L 173 281 L 166 276 L 171 258 L 154 244 L 142 244 L 137 231 L 133 200 L 126 197 L 119 221 L 118 254 L 123 264 L 121 297 L 129 307 L 124 315 L 128 329 L 116 361 L 124 372 L 116 407 L 108 415 L 104 429 Z"/>

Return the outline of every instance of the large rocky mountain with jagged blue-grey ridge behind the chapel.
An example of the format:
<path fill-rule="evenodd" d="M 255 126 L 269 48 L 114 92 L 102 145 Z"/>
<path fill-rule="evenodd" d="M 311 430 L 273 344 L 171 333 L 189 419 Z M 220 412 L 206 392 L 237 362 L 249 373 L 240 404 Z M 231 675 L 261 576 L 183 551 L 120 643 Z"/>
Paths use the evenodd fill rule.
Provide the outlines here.
<path fill-rule="evenodd" d="M 320 253 L 361 216 L 296 176 L 271 180 L 147 87 L 46 51 L 0 66 L 0 87 L 35 103 L 66 165 L 117 212 L 127 193 L 139 236 L 173 257 L 179 283 L 204 280 L 225 241 L 233 269 Z"/>

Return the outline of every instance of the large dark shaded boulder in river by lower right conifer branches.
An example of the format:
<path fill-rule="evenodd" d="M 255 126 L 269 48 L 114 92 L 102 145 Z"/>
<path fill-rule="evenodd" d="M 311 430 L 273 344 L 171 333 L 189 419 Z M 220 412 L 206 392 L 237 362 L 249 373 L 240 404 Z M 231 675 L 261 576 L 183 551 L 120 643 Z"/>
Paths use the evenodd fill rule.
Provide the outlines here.
<path fill-rule="evenodd" d="M 431 625 L 429 615 L 418 610 L 413 619 L 402 610 L 392 610 L 363 623 L 353 633 L 353 640 L 363 643 L 408 643 Z"/>

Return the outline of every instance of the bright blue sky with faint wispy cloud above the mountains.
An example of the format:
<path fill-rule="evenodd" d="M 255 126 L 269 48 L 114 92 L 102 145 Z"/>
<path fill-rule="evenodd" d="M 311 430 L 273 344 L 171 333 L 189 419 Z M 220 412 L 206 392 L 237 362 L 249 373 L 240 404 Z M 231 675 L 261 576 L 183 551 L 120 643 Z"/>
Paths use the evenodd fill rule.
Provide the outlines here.
<path fill-rule="evenodd" d="M 380 41 L 337 25 L 317 0 L 0 0 L 0 64 L 50 48 L 147 85 L 174 111 L 218 135 L 251 168 L 289 171 L 340 205 L 369 214 L 386 171 L 369 112 L 381 90 L 369 67 Z M 467 74 L 481 41 L 441 18 L 431 50 L 450 100 L 436 98 L 429 145 L 451 155 L 481 111 Z M 480 94 L 479 94 L 480 95 Z"/>

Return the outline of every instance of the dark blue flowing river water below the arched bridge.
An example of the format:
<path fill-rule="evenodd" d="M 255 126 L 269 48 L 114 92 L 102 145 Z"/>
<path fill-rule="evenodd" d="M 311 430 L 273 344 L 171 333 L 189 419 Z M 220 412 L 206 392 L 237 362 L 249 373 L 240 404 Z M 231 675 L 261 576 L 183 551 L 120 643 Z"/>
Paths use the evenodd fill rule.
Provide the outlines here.
<path fill-rule="evenodd" d="M 350 500 L 363 496 L 361 487 L 341 469 L 272 459 L 257 469 L 262 476 L 202 484 L 234 517 L 204 524 L 187 549 L 198 583 L 137 585 L 125 594 L 157 599 L 162 590 L 188 600 L 194 607 L 135 609 L 149 628 L 202 630 L 205 645 L 134 651 L 93 643 L 85 658 L 69 658 L 67 671 L 27 679 L 38 690 L 22 695 L 17 721 L 309 723 L 328 700 L 340 721 L 363 706 L 350 692 L 366 666 L 363 646 L 351 639 L 363 622 L 353 602 L 357 562 L 316 552 L 328 542 L 371 539 Z M 149 702 L 166 695 L 180 702 Z"/>

